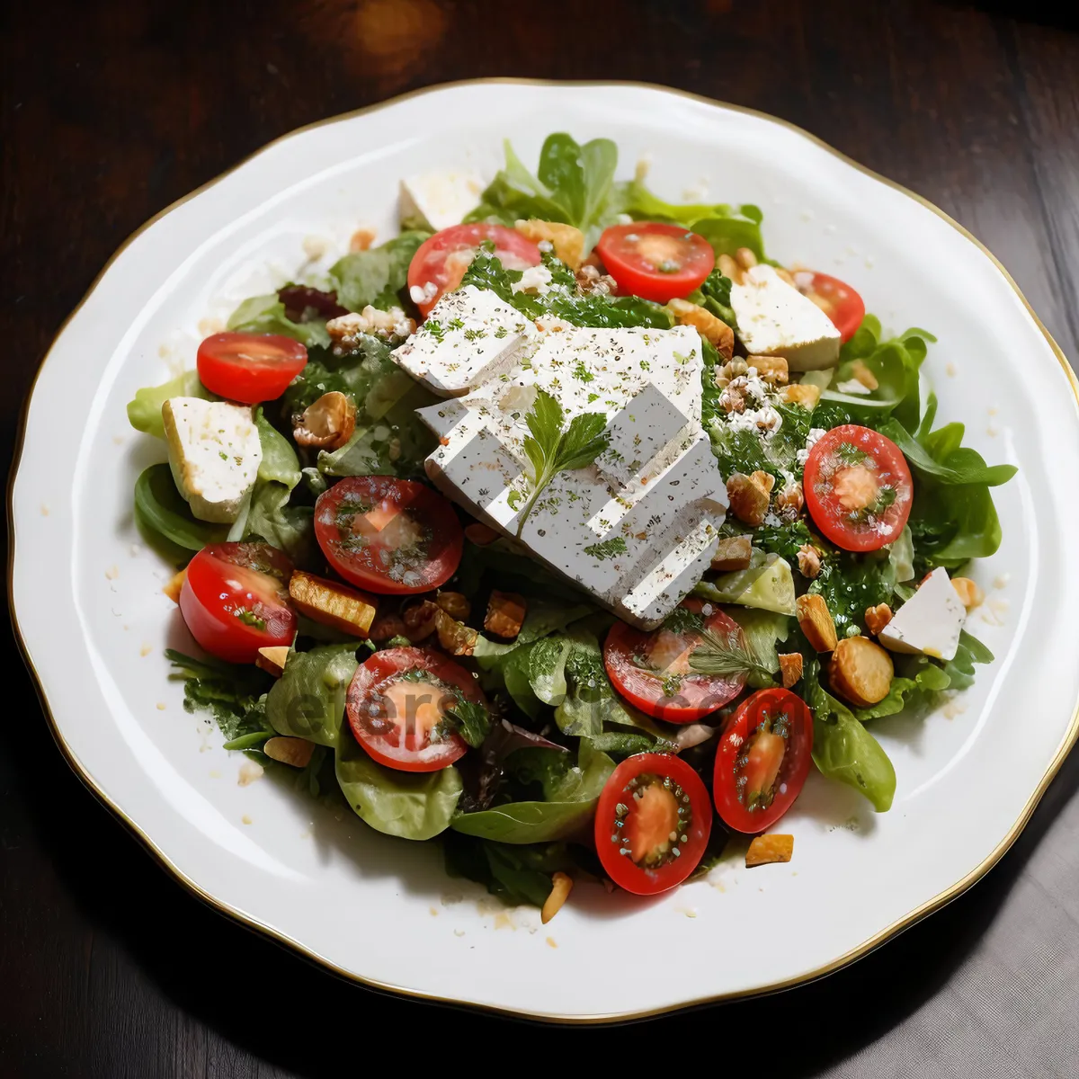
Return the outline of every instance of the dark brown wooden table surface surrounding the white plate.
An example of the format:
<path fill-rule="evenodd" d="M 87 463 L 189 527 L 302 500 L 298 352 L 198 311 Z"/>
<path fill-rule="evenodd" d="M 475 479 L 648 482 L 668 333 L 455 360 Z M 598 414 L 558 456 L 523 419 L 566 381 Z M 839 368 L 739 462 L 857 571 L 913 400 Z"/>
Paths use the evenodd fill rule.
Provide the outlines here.
<path fill-rule="evenodd" d="M 293 127 L 473 77 L 668 83 L 801 124 L 968 226 L 1079 356 L 1079 36 L 1036 15 L 898 0 L 5 4 L 4 448 L 65 315 L 144 220 Z M 372 1035 L 421 1030 L 466 1067 L 511 1074 L 541 1040 L 577 1060 L 559 1054 L 579 1032 L 381 997 L 200 905 L 68 770 L 16 651 L 3 654 L 0 1076 L 338 1075 L 363 1069 Z M 1065 1034 L 1020 997 L 1025 956 L 1079 953 L 1066 897 L 1039 900 L 1030 871 L 1074 848 L 1077 787 L 1073 756 L 997 869 L 900 942 L 781 998 L 623 1032 L 623 1047 L 711 1046 L 722 1067 L 749 1038 L 780 1075 L 1055 1074 L 1050 1050 L 1074 1022 Z M 1034 928 L 1000 941 L 1009 918 L 1030 924 L 1019 902 Z M 1039 902 L 1063 909 L 1070 939 L 1043 939 L 1061 934 L 1039 929 Z M 1054 1007 L 1074 1019 L 1075 981 L 1063 992 Z M 954 1038 L 972 1032 L 958 1058 Z"/>

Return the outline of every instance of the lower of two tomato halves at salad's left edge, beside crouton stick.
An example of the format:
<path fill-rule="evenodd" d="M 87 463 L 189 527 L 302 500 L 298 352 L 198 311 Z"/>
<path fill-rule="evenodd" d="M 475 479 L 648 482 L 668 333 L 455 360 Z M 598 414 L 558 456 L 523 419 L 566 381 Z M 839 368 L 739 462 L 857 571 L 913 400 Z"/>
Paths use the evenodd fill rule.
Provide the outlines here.
<path fill-rule="evenodd" d="M 180 613 L 210 655 L 254 664 L 259 648 L 291 644 L 296 637 L 291 575 L 292 563 L 270 544 L 211 544 L 188 563 Z"/>

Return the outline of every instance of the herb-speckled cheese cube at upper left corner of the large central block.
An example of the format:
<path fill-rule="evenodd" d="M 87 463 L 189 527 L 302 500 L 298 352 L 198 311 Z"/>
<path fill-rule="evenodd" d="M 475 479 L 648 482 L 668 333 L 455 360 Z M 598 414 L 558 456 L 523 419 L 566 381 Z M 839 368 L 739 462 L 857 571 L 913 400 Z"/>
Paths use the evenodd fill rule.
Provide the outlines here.
<path fill-rule="evenodd" d="M 466 285 L 447 292 L 424 324 L 394 353 L 414 379 L 442 397 L 455 397 L 513 364 L 540 331 L 494 292 Z"/>

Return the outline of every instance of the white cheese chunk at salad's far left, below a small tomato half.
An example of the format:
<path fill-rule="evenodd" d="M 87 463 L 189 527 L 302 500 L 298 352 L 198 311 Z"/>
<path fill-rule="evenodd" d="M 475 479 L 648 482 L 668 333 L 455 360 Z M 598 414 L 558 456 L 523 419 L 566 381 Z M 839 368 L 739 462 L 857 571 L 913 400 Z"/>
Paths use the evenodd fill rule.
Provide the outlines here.
<path fill-rule="evenodd" d="M 173 478 L 191 513 L 202 521 L 235 521 L 262 461 L 250 406 L 170 397 L 161 416 Z"/>

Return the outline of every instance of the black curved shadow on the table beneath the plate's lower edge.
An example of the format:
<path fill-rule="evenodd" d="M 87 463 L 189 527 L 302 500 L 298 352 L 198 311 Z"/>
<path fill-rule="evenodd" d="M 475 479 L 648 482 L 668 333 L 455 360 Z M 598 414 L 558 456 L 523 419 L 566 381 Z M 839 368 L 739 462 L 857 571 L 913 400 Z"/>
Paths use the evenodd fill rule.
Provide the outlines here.
<path fill-rule="evenodd" d="M 33 730 L 30 734 L 30 729 Z M 9 775 L 28 788 L 32 824 L 69 893 L 87 918 L 114 937 L 140 970 L 176 1006 L 233 1044 L 302 1076 L 340 1075 L 333 1039 L 320 1030 L 424 1032 L 428 1044 L 482 1046 L 492 1030 L 530 1037 L 523 1025 L 475 1012 L 400 1000 L 334 979 L 254 933 L 243 932 L 190 896 L 132 844 L 108 812 L 79 790 L 78 781 L 49 742 L 42 727 L 23 727 L 24 760 L 38 760 L 47 773 Z M 32 754 L 23 756 L 23 753 Z M 31 783 L 46 782 L 47 797 Z M 971 891 L 909 930 L 899 946 L 887 945 L 852 967 L 782 998 L 713 1006 L 653 1021 L 668 1043 L 689 1044 L 700 1030 L 724 1038 L 768 1038 L 769 1069 L 809 1075 L 875 1041 L 930 998 L 964 962 L 997 914 L 1032 851 L 1065 803 L 1079 789 L 1079 754 L 1065 763 L 1028 828 L 1000 864 Z M 325 912 L 323 912 L 325 913 Z M 342 919 L 361 912 L 340 911 Z M 167 942 L 167 943 L 164 943 Z M 633 941 L 626 942 L 633 947 Z M 654 954 L 642 942 L 642 955 Z M 646 975 L 647 960 L 642 974 Z M 659 971 L 657 971 L 659 973 Z M 857 1005 L 856 1005 L 857 1002 Z M 422 1011 L 421 1011 L 422 1009 Z M 781 1009 L 779 1011 L 778 1009 Z M 852 1010 L 855 1009 L 855 1010 Z M 497 1028 L 496 1028 L 497 1024 Z M 579 1037 L 579 1032 L 546 1029 L 544 1044 Z M 452 1041 L 450 1040 L 452 1039 Z M 698 1042 L 699 1043 L 699 1042 Z M 469 1053 L 484 1052 L 473 1049 Z"/>

